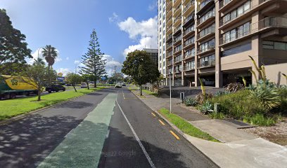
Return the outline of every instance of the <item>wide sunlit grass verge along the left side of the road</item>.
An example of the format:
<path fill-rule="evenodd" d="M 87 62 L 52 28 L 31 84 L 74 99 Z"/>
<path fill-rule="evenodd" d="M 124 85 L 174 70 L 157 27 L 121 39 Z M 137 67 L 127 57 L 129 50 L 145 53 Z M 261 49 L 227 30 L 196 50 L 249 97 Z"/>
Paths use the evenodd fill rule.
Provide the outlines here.
<path fill-rule="evenodd" d="M 37 109 L 41 109 L 46 106 L 57 104 L 59 102 L 66 101 L 75 97 L 94 92 L 96 90 L 101 90 L 104 87 L 96 87 L 88 89 L 66 91 L 66 92 L 56 92 L 51 94 L 46 94 L 42 96 L 42 101 L 37 102 L 37 97 L 23 97 L 19 99 L 8 99 L 0 101 L 0 120 L 6 120 L 15 116 L 19 116 L 23 113 L 28 113 Z"/>

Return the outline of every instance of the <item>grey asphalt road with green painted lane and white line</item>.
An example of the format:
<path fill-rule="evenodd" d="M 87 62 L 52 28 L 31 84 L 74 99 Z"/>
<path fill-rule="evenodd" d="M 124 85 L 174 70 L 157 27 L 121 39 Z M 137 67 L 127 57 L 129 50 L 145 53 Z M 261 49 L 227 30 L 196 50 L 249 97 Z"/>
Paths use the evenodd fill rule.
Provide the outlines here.
<path fill-rule="evenodd" d="M 217 167 L 151 112 L 126 88 L 79 97 L 1 125 L 0 165 Z"/>

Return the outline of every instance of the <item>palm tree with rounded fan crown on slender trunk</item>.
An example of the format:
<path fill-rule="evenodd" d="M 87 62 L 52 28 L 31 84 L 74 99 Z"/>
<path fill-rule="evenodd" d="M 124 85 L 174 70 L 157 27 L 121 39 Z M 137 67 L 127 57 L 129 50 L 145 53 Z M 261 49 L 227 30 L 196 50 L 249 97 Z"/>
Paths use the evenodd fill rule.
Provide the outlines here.
<path fill-rule="evenodd" d="M 56 48 L 52 47 L 51 45 L 46 45 L 46 47 L 43 48 L 42 54 L 48 63 L 48 71 L 50 72 L 51 66 L 53 66 L 55 63 L 56 57 L 58 57 Z M 51 78 L 48 79 L 48 85 L 51 85 Z"/>

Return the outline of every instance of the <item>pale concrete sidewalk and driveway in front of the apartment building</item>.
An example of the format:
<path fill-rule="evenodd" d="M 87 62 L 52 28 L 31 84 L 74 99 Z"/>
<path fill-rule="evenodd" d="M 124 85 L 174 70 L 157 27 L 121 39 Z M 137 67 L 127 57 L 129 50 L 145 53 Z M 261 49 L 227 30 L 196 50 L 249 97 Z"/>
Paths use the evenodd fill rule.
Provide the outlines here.
<path fill-rule="evenodd" d="M 137 92 L 134 92 L 137 94 Z M 170 109 L 170 98 L 154 97 L 144 93 L 139 98 L 153 111 Z M 172 98 L 172 113 L 176 113 L 189 123 L 207 132 L 222 143 L 197 139 L 184 134 L 184 137 L 208 156 L 219 167 L 286 167 L 287 148 L 237 129 L 226 120 L 212 120 L 197 111 L 181 106 L 179 99 Z"/>

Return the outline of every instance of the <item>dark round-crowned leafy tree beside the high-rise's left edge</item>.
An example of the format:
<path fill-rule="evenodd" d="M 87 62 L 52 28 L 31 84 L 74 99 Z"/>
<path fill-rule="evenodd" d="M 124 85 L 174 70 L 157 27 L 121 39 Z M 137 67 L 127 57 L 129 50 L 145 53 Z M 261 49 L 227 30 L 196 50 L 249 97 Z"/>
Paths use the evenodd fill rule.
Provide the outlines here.
<path fill-rule="evenodd" d="M 152 61 L 146 51 L 140 50 L 127 54 L 127 59 L 122 65 L 122 73 L 132 76 L 134 83 L 140 87 L 146 83 L 155 83 L 160 77 L 158 66 Z"/>

